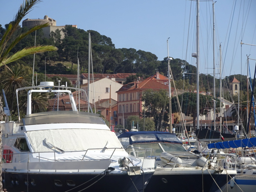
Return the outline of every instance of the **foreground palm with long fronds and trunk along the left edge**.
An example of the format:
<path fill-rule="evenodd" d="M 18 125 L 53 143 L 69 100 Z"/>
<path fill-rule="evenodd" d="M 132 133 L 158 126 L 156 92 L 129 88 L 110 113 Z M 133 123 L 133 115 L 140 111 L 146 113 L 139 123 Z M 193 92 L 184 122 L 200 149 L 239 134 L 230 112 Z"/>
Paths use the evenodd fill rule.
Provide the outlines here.
<path fill-rule="evenodd" d="M 40 0 L 25 0 L 25 4 L 21 4 L 19 11 L 17 12 L 14 20 L 8 25 L 6 28 L 6 31 L 4 35 L 2 36 L 0 40 L 0 67 L 3 65 L 7 65 L 13 61 L 19 60 L 22 57 L 25 57 L 30 54 L 34 53 L 42 53 L 42 52 L 47 52 L 47 51 L 56 51 L 57 48 L 54 46 L 34 46 L 34 47 L 26 47 L 18 52 L 15 52 L 13 55 L 10 55 L 9 52 L 12 50 L 12 48 L 25 36 L 28 34 L 40 29 L 44 28 L 46 26 L 49 26 L 50 23 L 46 23 L 43 25 L 38 25 L 36 27 L 30 28 L 27 32 L 20 34 L 17 37 L 14 37 L 13 35 L 14 32 L 17 30 L 19 27 L 20 21 L 31 11 L 32 7 L 39 3 Z M 13 39 L 13 40 L 12 40 Z M 7 67 L 7 66 L 6 66 Z M 8 68 L 8 67 L 7 67 Z M 2 120 L 4 116 L 3 112 L 3 105 L 1 102 L 1 97 L 0 97 L 0 119 Z M 2 130 L 1 130 L 1 125 L 0 125 L 0 158 L 2 159 Z M 3 191 L 3 184 L 2 184 L 2 163 L 3 161 L 0 161 L 0 192 Z"/>

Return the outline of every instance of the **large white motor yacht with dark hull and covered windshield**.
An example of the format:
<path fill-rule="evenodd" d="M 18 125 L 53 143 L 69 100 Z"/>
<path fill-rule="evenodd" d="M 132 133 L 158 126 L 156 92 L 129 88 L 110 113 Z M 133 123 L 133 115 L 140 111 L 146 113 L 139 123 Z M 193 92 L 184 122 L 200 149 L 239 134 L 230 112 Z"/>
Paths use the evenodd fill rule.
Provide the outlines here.
<path fill-rule="evenodd" d="M 25 89 L 25 117 L 1 124 L 4 188 L 13 192 L 144 190 L 155 171 L 154 160 L 130 156 L 98 114 L 77 111 L 70 87 L 43 84 L 20 88 L 17 96 Z M 34 92 L 66 93 L 73 111 L 32 114 Z"/>

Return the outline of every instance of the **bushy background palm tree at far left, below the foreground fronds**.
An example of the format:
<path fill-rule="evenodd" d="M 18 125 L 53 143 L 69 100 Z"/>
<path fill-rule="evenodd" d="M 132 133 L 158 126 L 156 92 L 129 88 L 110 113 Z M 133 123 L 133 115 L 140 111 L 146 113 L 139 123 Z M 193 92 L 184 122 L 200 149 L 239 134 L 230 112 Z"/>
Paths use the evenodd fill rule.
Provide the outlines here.
<path fill-rule="evenodd" d="M 26 78 L 24 78 L 25 69 L 23 65 L 14 65 L 8 69 L 5 69 L 3 75 L 0 77 L 0 82 L 2 82 L 1 87 L 4 89 L 7 96 L 9 96 L 11 101 L 10 110 L 13 111 L 13 101 L 16 97 L 16 89 L 21 87 L 27 87 L 30 85 Z"/>

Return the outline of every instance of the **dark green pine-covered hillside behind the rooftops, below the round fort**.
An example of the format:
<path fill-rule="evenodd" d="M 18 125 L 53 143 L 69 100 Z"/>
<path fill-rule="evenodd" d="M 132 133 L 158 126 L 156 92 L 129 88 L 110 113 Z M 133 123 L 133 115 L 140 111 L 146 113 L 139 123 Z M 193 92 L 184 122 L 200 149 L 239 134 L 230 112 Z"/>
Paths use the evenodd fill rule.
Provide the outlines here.
<path fill-rule="evenodd" d="M 0 38 L 10 25 L 4 27 L 0 25 Z M 17 26 L 12 39 L 22 33 L 27 33 L 30 29 L 27 27 Z M 10 54 L 25 48 L 36 45 L 53 45 L 58 48 L 56 51 L 44 52 L 35 55 L 35 73 L 47 74 L 77 74 L 77 56 L 80 63 L 80 72 L 87 73 L 88 68 L 88 35 L 89 31 L 74 28 L 66 25 L 62 29 L 64 37 L 61 38 L 60 30 L 52 31 L 49 38 L 43 37 L 42 29 L 38 29 L 22 38 L 16 46 L 12 48 Z M 92 61 L 94 73 L 135 73 L 135 76 L 127 78 L 126 83 L 136 81 L 138 77 L 147 78 L 159 71 L 162 75 L 167 76 L 166 58 L 158 60 L 157 56 L 151 52 L 136 50 L 133 48 L 116 49 L 115 44 L 110 37 L 101 35 L 99 32 L 90 30 L 92 42 Z M 34 55 L 27 55 L 11 63 L 11 65 L 20 64 L 33 68 Z M 175 82 L 177 89 L 194 90 L 196 85 L 196 66 L 190 65 L 186 60 L 173 59 L 170 62 L 172 69 L 172 80 Z M 4 68 L 0 69 L 4 71 Z M 30 76 L 30 78 L 32 75 Z M 234 75 L 223 78 L 222 84 L 228 84 Z M 242 90 L 246 91 L 246 77 L 236 75 L 239 81 L 242 81 Z M 242 80 L 241 80 L 242 79 Z M 213 92 L 213 76 L 200 74 L 200 91 Z M 31 80 L 28 80 L 31 82 Z M 216 79 L 216 95 L 219 90 L 219 79 Z M 228 90 L 226 89 L 228 92 Z M 244 93 L 241 93 L 242 95 Z M 225 99 L 232 100 L 228 94 Z M 236 100 L 236 97 L 233 98 Z"/>

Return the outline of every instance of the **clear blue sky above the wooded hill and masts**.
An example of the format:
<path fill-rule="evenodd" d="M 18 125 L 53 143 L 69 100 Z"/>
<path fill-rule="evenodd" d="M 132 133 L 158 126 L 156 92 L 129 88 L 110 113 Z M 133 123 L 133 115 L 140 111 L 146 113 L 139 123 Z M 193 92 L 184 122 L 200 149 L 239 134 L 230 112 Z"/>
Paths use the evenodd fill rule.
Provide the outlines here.
<path fill-rule="evenodd" d="M 23 0 L 1 2 L 2 26 L 13 20 L 22 2 Z M 233 74 L 246 75 L 246 54 L 251 54 L 250 58 L 256 59 L 256 46 L 242 45 L 241 59 L 240 42 L 242 39 L 243 43 L 256 44 L 256 1 L 217 1 L 214 7 L 215 68 L 219 68 L 221 43 L 222 77 Z M 56 20 L 57 26 L 71 24 L 84 30 L 98 31 L 101 35 L 110 37 L 116 48 L 152 52 L 158 60 L 167 57 L 166 40 L 170 37 L 169 55 L 196 65 L 196 60 L 191 57 L 191 53 L 196 52 L 196 1 L 43 0 L 26 18 L 44 18 L 44 15 Z M 199 18 L 199 71 L 212 74 L 212 1 L 200 2 Z M 250 60 L 252 76 L 254 67 L 255 60 Z"/>

